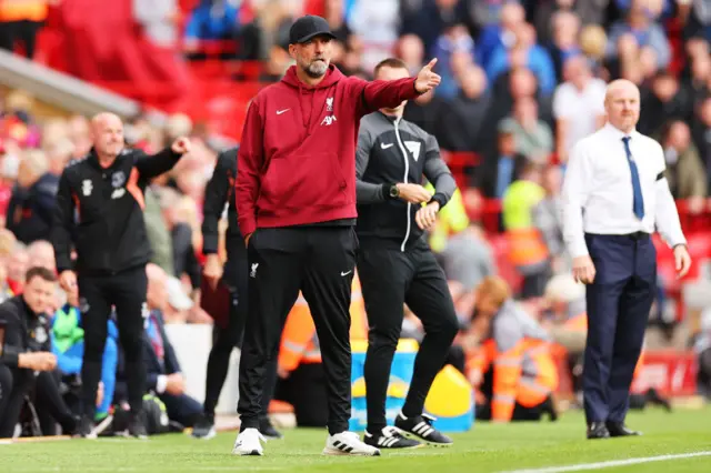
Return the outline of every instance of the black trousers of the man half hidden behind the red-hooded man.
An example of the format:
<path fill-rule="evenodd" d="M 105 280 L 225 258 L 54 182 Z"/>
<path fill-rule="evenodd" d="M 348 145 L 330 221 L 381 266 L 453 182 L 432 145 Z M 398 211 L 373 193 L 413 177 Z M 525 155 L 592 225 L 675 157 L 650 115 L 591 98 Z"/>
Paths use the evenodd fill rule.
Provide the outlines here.
<path fill-rule="evenodd" d="M 242 240 L 228 242 L 228 260 L 224 263 L 222 281 L 230 288 L 229 321 L 226 329 L 214 325 L 212 350 L 208 358 L 206 393 L 203 411 L 214 415 L 214 407 L 220 400 L 224 379 L 230 368 L 230 356 L 236 346 L 242 345 L 244 324 L 248 314 L 247 249 Z M 277 383 L 277 360 L 267 366 L 264 392 L 261 403 L 261 416 L 267 417 Z"/>

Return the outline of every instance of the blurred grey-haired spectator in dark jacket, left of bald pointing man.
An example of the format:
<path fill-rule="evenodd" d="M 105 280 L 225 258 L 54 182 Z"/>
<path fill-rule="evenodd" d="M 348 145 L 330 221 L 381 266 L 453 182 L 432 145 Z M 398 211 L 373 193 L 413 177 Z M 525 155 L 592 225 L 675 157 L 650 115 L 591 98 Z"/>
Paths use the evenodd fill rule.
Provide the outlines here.
<path fill-rule="evenodd" d="M 42 151 L 26 151 L 8 205 L 6 225 L 22 243 L 49 239 L 59 177 Z"/>

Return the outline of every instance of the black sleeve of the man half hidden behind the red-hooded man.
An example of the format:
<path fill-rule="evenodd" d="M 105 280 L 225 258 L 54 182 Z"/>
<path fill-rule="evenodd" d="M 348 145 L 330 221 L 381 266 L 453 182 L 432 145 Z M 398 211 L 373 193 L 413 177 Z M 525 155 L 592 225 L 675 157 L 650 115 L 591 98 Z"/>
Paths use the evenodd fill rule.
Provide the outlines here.
<path fill-rule="evenodd" d="M 202 203 L 202 253 L 212 254 L 218 252 L 219 232 L 218 225 L 224 203 L 230 192 L 230 180 L 228 172 L 230 167 L 226 162 L 229 159 L 227 152 L 218 155 L 218 161 L 212 171 L 212 178 L 204 188 L 204 200 Z"/>

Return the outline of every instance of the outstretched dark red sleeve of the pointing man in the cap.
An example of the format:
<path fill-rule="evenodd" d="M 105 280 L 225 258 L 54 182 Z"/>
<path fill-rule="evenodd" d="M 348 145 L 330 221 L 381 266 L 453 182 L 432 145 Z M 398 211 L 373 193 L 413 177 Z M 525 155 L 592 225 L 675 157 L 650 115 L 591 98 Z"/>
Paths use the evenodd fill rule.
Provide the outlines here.
<path fill-rule="evenodd" d="M 357 114 L 363 117 L 375 110 L 394 109 L 404 100 L 420 97 L 414 88 L 415 78 L 404 78 L 393 81 L 375 80 L 372 82 L 351 77 L 352 95 L 357 98 Z"/>

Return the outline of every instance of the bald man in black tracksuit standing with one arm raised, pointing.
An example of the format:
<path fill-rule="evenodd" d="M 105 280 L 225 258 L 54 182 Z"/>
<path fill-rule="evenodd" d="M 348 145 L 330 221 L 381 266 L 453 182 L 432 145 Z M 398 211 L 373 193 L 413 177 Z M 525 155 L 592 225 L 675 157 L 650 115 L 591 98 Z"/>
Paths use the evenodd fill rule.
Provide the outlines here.
<path fill-rule="evenodd" d="M 51 240 L 60 283 L 79 290 L 84 329 L 81 369 L 83 412 L 79 433 L 94 436 L 97 388 L 107 339 L 107 321 L 116 306 L 119 339 L 127 361 L 131 419 L 129 433 L 144 437 L 141 406 L 146 385 L 142 359 L 143 316 L 148 313 L 146 264 L 151 246 L 143 221 L 143 191 L 152 178 L 190 151 L 187 138 L 156 155 L 124 148 L 123 123 L 112 113 L 91 120 L 93 147 L 70 163 L 59 181 Z M 77 261 L 72 264 L 72 249 Z"/>

